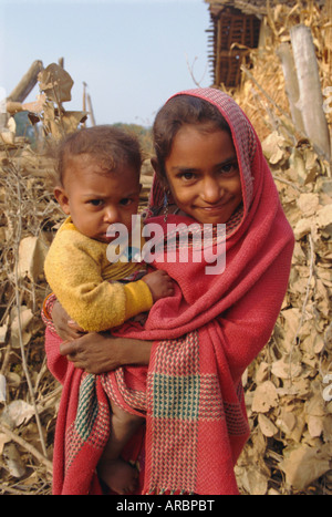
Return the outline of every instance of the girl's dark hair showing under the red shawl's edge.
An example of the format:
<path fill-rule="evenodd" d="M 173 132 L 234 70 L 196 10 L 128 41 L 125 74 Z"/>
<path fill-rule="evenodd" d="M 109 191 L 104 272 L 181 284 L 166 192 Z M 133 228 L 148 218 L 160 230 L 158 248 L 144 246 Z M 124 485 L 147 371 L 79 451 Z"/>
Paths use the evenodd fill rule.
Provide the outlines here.
<path fill-rule="evenodd" d="M 159 110 L 153 125 L 154 148 L 158 172 L 166 177 L 165 161 L 172 152 L 173 141 L 184 125 L 197 125 L 201 131 L 227 131 L 230 127 L 219 110 L 208 101 L 193 95 L 172 97 Z"/>

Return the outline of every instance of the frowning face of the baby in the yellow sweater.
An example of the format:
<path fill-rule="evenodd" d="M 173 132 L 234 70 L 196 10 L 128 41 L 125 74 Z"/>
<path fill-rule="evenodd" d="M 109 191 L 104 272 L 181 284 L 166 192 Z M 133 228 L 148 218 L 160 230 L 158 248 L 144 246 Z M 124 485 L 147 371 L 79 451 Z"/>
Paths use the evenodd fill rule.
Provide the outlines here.
<path fill-rule="evenodd" d="M 141 192 L 139 177 L 133 167 L 104 173 L 94 158 L 79 155 L 69 159 L 63 184 L 58 195 L 55 189 L 55 196 L 83 235 L 110 242 L 106 231 L 115 223 L 131 231 Z"/>

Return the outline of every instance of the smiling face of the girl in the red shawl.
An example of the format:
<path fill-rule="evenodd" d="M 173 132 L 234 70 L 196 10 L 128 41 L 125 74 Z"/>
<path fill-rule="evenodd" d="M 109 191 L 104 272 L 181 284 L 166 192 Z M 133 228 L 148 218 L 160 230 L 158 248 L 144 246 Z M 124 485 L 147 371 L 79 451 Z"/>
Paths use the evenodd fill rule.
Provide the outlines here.
<path fill-rule="evenodd" d="M 242 200 L 235 146 L 225 131 L 183 126 L 165 169 L 176 205 L 199 223 L 227 223 Z"/>

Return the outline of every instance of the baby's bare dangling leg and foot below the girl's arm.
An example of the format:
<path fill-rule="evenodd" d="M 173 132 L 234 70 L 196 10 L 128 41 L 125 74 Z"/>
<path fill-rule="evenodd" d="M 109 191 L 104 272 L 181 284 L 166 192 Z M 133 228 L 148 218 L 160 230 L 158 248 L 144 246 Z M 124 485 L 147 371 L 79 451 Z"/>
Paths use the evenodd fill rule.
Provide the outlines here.
<path fill-rule="evenodd" d="M 125 495 L 135 492 L 138 473 L 136 468 L 122 459 L 121 453 L 144 418 L 123 411 L 113 402 L 111 406 L 111 435 L 100 459 L 97 472 L 113 492 Z"/>

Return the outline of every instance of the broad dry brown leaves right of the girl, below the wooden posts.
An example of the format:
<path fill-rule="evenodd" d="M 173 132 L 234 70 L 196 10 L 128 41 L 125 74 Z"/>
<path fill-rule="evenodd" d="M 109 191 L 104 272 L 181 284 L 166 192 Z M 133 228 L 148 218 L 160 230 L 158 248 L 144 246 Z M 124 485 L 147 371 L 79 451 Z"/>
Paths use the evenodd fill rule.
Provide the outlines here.
<path fill-rule="evenodd" d="M 332 179 L 308 142 L 274 132 L 262 144 L 295 248 L 274 332 L 245 379 L 252 433 L 237 475 L 249 494 L 331 494 Z"/>

